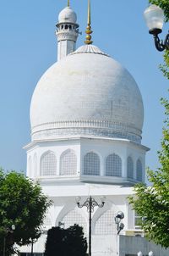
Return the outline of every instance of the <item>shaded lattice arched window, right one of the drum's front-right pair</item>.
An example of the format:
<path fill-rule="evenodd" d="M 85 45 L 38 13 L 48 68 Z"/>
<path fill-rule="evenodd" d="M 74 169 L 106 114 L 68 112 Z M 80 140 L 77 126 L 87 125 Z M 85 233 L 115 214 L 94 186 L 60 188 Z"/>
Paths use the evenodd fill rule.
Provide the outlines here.
<path fill-rule="evenodd" d="M 106 176 L 122 176 L 122 159 L 116 153 L 106 158 Z"/>

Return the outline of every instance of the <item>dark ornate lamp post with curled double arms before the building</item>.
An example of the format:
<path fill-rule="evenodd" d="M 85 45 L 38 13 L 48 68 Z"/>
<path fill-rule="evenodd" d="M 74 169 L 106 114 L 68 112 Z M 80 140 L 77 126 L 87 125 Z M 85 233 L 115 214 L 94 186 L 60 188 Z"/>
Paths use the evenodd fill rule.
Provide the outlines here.
<path fill-rule="evenodd" d="M 79 200 L 81 198 L 77 198 L 77 204 L 79 208 L 83 208 L 84 206 L 87 208 L 87 211 L 89 212 L 89 256 L 91 256 L 91 213 L 94 212 L 95 206 L 102 208 L 105 204 L 104 199 L 101 198 L 101 203 L 97 203 L 95 201 L 95 198 L 87 198 L 84 203 L 80 203 Z"/>

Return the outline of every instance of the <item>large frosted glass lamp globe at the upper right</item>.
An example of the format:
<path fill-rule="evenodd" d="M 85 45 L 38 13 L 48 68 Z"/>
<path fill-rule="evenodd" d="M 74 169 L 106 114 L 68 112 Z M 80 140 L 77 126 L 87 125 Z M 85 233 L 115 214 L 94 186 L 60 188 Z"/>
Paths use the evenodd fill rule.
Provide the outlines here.
<path fill-rule="evenodd" d="M 155 4 L 151 4 L 150 7 L 144 10 L 144 19 L 146 25 L 149 28 L 150 34 L 161 33 L 164 23 L 164 11 Z"/>

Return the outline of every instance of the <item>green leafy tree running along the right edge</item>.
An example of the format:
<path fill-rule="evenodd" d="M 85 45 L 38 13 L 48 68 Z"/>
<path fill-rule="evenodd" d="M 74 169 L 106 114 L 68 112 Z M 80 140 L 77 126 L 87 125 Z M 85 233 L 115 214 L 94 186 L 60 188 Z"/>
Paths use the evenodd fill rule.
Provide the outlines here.
<path fill-rule="evenodd" d="M 160 6 L 169 21 L 168 0 L 150 0 Z M 169 51 L 164 53 L 164 64 L 160 65 L 163 75 L 169 79 Z M 148 180 L 152 186 L 139 184 L 134 187 L 135 197 L 129 197 L 129 203 L 143 217 L 142 228 L 146 236 L 156 244 L 169 248 L 169 100 L 161 99 L 166 111 L 163 127 L 161 151 L 158 152 L 160 168 L 148 169 Z"/>

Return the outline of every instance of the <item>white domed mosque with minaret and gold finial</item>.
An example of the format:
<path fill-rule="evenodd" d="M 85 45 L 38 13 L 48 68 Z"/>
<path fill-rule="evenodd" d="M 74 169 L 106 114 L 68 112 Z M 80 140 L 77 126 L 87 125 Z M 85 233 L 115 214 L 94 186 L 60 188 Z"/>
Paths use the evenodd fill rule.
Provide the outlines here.
<path fill-rule="evenodd" d="M 27 175 L 53 202 L 35 255 L 44 253 L 45 231 L 52 226 L 82 225 L 88 237 L 89 213 L 78 207 L 79 197 L 81 203 L 89 197 L 101 203 L 104 196 L 104 206 L 92 212 L 93 256 L 136 255 L 140 248 L 127 252 L 119 237 L 144 237 L 140 217 L 128 205 L 133 186 L 144 182 L 149 150 L 141 144 L 141 93 L 128 70 L 92 44 L 91 33 L 89 1 L 85 45 L 77 49 L 79 25 L 68 1 L 58 16 L 57 63 L 41 76 L 31 99 Z M 121 236 L 114 221 L 119 211 Z M 30 255 L 30 247 L 21 252 Z"/>

